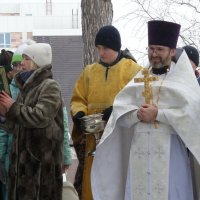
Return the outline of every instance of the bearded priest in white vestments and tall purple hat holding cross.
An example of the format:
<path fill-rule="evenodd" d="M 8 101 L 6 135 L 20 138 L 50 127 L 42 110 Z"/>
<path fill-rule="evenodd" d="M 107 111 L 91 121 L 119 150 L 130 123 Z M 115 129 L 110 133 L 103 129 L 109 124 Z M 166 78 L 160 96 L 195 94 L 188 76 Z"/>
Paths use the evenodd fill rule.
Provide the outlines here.
<path fill-rule="evenodd" d="M 200 90 L 185 51 L 173 59 L 179 31 L 148 22 L 150 67 L 115 98 L 92 166 L 94 200 L 196 200 L 188 151 L 199 164 Z"/>

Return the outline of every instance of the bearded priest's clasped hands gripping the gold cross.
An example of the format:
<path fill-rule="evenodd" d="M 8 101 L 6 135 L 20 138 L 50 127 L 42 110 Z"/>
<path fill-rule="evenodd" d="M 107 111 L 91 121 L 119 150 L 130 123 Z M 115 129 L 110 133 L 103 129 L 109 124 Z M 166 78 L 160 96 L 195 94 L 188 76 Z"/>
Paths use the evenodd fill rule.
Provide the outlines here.
<path fill-rule="evenodd" d="M 154 122 L 158 114 L 158 107 L 151 104 L 143 104 L 137 112 L 138 119 L 143 122 Z"/>

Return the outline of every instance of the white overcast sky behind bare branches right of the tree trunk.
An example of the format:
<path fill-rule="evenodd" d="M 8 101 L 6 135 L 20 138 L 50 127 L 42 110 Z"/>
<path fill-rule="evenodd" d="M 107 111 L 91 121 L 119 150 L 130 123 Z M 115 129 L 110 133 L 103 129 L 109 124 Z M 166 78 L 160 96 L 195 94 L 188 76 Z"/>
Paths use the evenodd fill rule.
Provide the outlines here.
<path fill-rule="evenodd" d="M 191 2 L 193 5 L 197 6 L 197 8 L 198 6 L 200 7 L 199 0 L 192 0 Z M 147 47 L 147 24 L 142 24 L 142 22 L 139 21 L 139 17 L 135 20 L 131 19 L 130 15 L 126 19 L 122 19 L 123 15 L 133 11 L 138 14 L 138 9 L 136 7 L 137 4 L 134 4 L 131 0 L 112 0 L 112 4 L 114 10 L 113 25 L 120 31 L 122 48 L 127 47 L 130 49 L 134 57 L 139 60 L 139 63 L 145 64 L 142 63 L 144 60 L 142 56 L 146 53 Z M 155 19 L 161 17 L 165 20 L 174 20 L 176 23 L 181 24 L 181 35 L 187 39 L 190 37 L 193 38 L 196 45 L 200 46 L 199 26 L 197 24 L 197 26 L 191 27 L 192 22 L 195 22 L 195 20 L 199 21 L 199 13 L 195 10 L 195 8 L 192 6 L 189 7 L 186 4 L 165 4 L 165 0 L 151 0 L 151 4 L 143 4 L 143 6 L 149 9 L 150 14 L 153 15 Z M 143 18 L 143 20 L 144 19 L 145 18 Z M 181 47 L 183 45 L 185 44 L 181 37 L 179 37 L 177 46 Z"/>

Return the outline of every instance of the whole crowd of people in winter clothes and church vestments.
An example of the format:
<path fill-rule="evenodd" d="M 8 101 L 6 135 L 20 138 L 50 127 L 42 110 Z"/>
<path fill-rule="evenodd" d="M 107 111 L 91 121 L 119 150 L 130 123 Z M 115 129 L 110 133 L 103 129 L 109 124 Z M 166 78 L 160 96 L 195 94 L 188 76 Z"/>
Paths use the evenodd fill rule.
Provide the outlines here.
<path fill-rule="evenodd" d="M 79 161 L 69 200 L 200 199 L 199 52 L 177 48 L 180 24 L 152 20 L 147 28 L 149 67 L 121 49 L 114 26 L 99 29 L 99 60 L 83 68 L 70 108 L 50 44 L 1 50 L 9 89 L 0 93 L 0 199 L 63 199 L 72 164 L 67 112 Z M 97 146 L 82 124 L 94 114 L 105 122 Z"/>

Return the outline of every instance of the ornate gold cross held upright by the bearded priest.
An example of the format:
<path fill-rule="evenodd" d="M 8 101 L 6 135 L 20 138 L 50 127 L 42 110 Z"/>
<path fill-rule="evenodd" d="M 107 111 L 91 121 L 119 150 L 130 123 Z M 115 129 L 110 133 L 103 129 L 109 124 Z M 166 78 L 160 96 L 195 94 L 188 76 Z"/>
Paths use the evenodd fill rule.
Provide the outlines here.
<path fill-rule="evenodd" d="M 142 96 L 145 98 L 145 103 L 152 104 L 153 103 L 153 93 L 152 93 L 152 81 L 158 81 L 159 77 L 150 76 L 149 70 L 144 68 L 142 70 L 143 78 L 134 78 L 135 83 L 144 82 L 144 91 L 142 92 Z"/>

